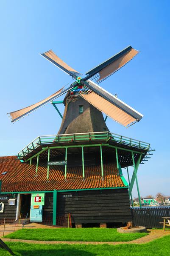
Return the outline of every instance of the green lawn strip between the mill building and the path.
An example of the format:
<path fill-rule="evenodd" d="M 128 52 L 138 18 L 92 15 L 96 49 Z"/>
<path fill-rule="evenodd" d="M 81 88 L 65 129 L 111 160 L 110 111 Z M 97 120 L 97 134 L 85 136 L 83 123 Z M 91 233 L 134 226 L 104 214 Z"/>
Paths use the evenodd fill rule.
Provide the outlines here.
<path fill-rule="evenodd" d="M 22 229 L 4 237 L 42 241 L 126 242 L 146 236 L 147 233 L 118 233 L 116 228 L 56 228 Z"/>

